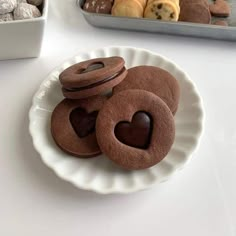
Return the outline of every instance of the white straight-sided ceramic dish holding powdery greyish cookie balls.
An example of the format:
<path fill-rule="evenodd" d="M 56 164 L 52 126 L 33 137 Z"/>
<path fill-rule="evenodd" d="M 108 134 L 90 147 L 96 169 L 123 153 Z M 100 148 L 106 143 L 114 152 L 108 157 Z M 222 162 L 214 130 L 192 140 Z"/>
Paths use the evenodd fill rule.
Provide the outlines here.
<path fill-rule="evenodd" d="M 48 0 L 42 16 L 0 23 L 0 60 L 38 57 L 47 20 Z"/>

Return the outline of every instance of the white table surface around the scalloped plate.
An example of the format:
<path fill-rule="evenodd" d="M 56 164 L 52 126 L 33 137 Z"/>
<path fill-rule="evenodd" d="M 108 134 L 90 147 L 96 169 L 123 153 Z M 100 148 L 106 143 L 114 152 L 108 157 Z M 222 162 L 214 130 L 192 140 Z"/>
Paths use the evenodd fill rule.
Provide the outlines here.
<path fill-rule="evenodd" d="M 206 120 L 189 165 L 166 183 L 98 195 L 56 177 L 28 132 L 41 81 L 73 55 L 108 45 L 165 55 L 192 78 Z M 236 43 L 94 28 L 74 0 L 51 0 L 40 58 L 0 62 L 0 235 L 236 235 Z"/>

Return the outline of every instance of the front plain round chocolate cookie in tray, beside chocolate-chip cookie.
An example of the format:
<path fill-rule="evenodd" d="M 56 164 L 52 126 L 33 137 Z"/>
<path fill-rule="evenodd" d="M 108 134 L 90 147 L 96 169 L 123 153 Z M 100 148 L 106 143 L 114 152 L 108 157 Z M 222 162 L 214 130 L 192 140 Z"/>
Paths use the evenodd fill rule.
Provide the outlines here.
<path fill-rule="evenodd" d="M 201 3 L 186 3 L 181 7 L 179 21 L 209 24 L 211 22 L 209 7 Z"/>

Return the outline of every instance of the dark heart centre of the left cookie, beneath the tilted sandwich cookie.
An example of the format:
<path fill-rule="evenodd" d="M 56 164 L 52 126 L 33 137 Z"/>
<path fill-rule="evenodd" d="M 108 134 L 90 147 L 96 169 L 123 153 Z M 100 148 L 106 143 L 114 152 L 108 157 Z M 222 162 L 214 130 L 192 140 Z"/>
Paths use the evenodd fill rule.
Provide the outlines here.
<path fill-rule="evenodd" d="M 70 123 L 80 138 L 85 138 L 95 131 L 98 111 L 87 113 L 83 108 L 77 107 L 70 113 Z"/>

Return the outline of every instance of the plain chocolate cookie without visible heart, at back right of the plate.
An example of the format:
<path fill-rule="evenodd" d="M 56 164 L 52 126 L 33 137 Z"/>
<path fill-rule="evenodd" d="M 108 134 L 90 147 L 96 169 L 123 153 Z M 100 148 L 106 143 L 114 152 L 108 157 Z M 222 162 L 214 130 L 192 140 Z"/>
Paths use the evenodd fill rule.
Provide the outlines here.
<path fill-rule="evenodd" d="M 143 89 L 159 96 L 176 113 L 180 87 L 178 81 L 166 70 L 155 66 L 136 66 L 128 70 L 126 78 L 113 88 L 113 94 L 127 89 Z"/>

